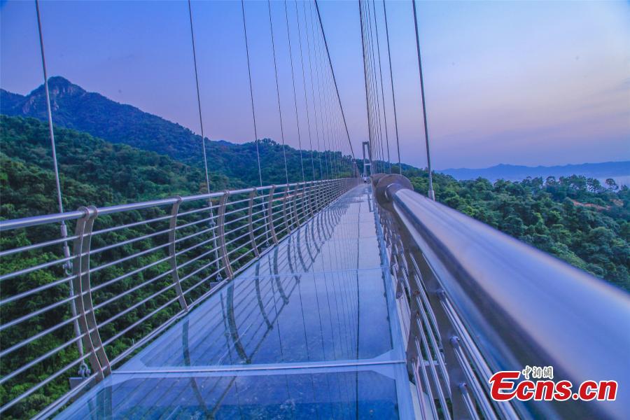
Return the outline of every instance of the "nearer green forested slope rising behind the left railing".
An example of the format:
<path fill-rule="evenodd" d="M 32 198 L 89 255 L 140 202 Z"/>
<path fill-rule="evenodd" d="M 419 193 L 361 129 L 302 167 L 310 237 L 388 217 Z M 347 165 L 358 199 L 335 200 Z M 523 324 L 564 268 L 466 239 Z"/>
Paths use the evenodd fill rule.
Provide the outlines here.
<path fill-rule="evenodd" d="M 34 118 L 0 116 L 0 139 L 0 216 L 56 213 L 48 125 Z M 60 127 L 55 140 L 66 210 L 206 190 L 201 169 L 165 155 Z M 212 190 L 241 186 L 223 175 L 211 175 Z"/>

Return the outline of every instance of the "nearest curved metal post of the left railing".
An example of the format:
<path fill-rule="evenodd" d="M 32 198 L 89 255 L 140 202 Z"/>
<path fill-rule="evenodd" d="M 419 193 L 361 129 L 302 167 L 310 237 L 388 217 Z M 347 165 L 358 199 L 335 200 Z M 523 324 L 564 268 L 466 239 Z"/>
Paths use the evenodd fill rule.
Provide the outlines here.
<path fill-rule="evenodd" d="M 90 246 L 92 228 L 94 219 L 98 216 L 98 210 L 90 206 L 81 207 L 79 211 L 83 211 L 85 216 L 76 223 L 76 239 L 73 244 L 75 260 L 72 265 L 73 288 L 77 291 L 75 300 L 83 347 L 90 351 L 90 365 L 92 365 L 92 370 L 97 372 L 96 380 L 101 381 L 111 373 L 111 367 L 99 335 L 90 288 Z"/>

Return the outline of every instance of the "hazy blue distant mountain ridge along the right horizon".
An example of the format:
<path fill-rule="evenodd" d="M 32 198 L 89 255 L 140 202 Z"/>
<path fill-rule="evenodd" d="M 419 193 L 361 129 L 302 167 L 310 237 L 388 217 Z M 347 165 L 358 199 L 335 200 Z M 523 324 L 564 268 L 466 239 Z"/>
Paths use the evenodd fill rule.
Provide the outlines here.
<path fill-rule="evenodd" d="M 483 169 L 444 169 L 442 174 L 453 176 L 455 179 L 477 179 L 479 177 L 496 181 L 497 179 L 505 179 L 506 181 L 521 181 L 528 176 L 532 178 L 547 176 L 570 176 L 583 175 L 587 178 L 615 178 L 630 176 L 630 161 L 622 162 L 601 162 L 601 163 L 582 163 L 580 165 L 558 165 L 558 166 L 538 166 L 527 167 L 520 165 L 496 165 Z"/>

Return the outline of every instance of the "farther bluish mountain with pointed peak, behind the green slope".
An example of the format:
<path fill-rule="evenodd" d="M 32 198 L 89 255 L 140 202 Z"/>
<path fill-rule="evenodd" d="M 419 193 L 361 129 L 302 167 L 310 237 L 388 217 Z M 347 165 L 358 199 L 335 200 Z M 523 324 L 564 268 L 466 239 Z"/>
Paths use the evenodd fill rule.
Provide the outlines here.
<path fill-rule="evenodd" d="M 179 160 L 188 165 L 203 167 L 202 139 L 179 124 L 154 116 L 131 105 L 119 104 L 102 94 L 87 92 L 65 78 L 49 79 L 52 120 L 55 125 L 87 132 L 114 144 L 127 144 L 144 151 Z M 47 118 L 43 85 L 22 96 L 0 90 L 0 113 L 8 116 Z M 283 147 L 269 139 L 259 142 L 262 162 L 262 182 L 285 183 Z M 286 147 L 288 178 L 290 182 L 302 181 L 300 151 Z M 258 185 L 255 142 L 233 144 L 228 141 L 207 141 L 207 156 L 212 172 L 238 179 L 247 186 Z M 337 174 L 339 167 L 348 167 L 349 157 L 341 153 L 317 153 L 302 151 L 304 178 L 321 179 Z M 348 169 L 345 169 L 348 171 Z"/>

